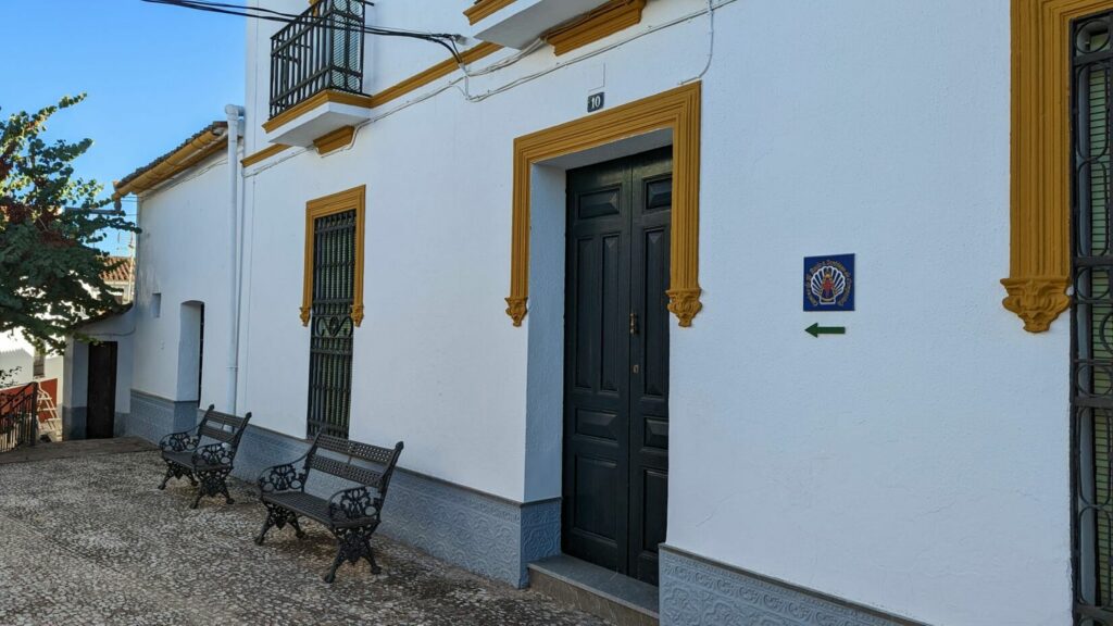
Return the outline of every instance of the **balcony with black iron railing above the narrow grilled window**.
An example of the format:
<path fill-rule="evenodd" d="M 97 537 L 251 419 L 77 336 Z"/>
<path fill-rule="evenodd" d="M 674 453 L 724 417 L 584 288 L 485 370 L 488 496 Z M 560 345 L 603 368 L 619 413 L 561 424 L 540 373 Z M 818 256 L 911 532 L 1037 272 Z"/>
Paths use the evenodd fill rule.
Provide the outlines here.
<path fill-rule="evenodd" d="M 370 116 L 364 9 L 363 0 L 318 0 L 270 38 L 268 141 L 308 146 Z"/>

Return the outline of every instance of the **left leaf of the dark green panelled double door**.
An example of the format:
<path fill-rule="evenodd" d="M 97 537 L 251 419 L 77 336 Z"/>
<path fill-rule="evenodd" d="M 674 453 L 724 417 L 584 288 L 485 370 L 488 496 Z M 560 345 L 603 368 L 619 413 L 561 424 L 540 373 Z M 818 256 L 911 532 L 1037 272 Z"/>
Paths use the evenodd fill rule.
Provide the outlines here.
<path fill-rule="evenodd" d="M 622 172 L 570 174 L 562 547 L 626 567 L 629 466 L 629 194 Z"/>

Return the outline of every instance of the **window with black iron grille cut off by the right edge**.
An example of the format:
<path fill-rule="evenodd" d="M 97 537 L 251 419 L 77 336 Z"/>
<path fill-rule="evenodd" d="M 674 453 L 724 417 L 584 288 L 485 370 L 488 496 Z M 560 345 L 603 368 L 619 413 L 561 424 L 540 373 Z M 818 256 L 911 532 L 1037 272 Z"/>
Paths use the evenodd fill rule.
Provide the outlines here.
<path fill-rule="evenodd" d="M 1073 25 L 1071 456 L 1075 624 L 1113 626 L 1113 13 Z"/>

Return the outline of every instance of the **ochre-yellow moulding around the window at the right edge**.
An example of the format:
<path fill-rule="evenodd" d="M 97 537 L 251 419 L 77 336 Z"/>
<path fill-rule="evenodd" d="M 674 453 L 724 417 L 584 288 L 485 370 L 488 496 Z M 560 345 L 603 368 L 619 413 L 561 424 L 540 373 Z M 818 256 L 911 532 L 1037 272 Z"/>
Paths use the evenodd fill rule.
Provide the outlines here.
<path fill-rule="evenodd" d="M 1071 305 L 1071 22 L 1113 0 L 1013 0 L 1012 215 L 1003 304 L 1040 333 Z"/>

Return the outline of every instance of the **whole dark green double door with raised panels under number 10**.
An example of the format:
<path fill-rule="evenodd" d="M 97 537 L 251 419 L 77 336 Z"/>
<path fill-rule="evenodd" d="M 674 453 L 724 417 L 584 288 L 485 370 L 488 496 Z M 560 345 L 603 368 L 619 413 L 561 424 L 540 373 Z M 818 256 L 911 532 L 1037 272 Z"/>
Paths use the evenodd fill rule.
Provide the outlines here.
<path fill-rule="evenodd" d="M 671 149 L 568 173 L 565 554 L 657 584 L 669 469 Z"/>

